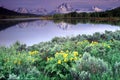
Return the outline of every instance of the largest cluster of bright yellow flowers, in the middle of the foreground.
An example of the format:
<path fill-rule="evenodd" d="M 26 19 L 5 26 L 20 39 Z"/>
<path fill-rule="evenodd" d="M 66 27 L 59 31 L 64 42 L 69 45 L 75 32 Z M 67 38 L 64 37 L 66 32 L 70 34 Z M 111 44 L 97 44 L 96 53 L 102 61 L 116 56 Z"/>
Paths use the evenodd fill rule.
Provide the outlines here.
<path fill-rule="evenodd" d="M 72 53 L 69 52 L 68 50 L 66 52 L 64 51 L 60 51 L 60 52 L 56 52 L 56 54 L 54 55 L 55 57 L 47 57 L 47 61 L 56 61 L 57 64 L 62 64 L 62 63 L 67 63 L 67 62 L 72 62 L 72 61 L 76 61 L 79 59 L 79 54 L 77 51 L 73 51 Z"/>

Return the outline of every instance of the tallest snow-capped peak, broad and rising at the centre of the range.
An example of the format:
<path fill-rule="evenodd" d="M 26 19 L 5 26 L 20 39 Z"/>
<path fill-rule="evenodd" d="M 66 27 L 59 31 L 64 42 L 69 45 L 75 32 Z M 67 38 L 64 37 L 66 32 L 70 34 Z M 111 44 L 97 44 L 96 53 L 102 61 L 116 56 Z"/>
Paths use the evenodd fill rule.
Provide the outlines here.
<path fill-rule="evenodd" d="M 52 14 L 55 14 L 55 13 L 64 14 L 64 13 L 70 13 L 70 12 L 73 12 L 73 11 L 74 11 L 74 9 L 69 3 L 62 3 L 61 5 L 59 5 L 56 8 L 56 10 L 54 10 L 52 12 Z"/>

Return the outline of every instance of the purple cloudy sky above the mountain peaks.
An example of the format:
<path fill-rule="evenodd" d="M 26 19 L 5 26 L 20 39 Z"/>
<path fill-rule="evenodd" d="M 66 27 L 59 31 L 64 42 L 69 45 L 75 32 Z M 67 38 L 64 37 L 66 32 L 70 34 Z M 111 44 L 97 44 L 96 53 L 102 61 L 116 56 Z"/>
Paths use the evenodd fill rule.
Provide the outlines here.
<path fill-rule="evenodd" d="M 11 10 L 22 7 L 27 9 L 45 8 L 52 11 L 62 3 L 69 3 L 74 9 L 88 9 L 97 6 L 106 10 L 120 6 L 120 0 L 0 0 L 0 6 Z"/>

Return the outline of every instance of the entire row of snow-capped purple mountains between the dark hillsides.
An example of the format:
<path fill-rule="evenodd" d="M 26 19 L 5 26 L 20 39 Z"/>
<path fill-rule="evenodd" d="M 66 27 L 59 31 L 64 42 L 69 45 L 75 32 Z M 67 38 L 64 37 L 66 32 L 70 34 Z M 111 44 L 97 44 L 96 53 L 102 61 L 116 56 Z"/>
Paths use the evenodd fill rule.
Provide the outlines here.
<path fill-rule="evenodd" d="M 37 14 L 37 15 L 48 15 L 48 14 L 65 14 L 65 13 L 70 13 L 70 12 L 101 12 L 103 9 L 98 8 L 97 6 L 92 6 L 90 9 L 85 10 L 85 9 L 75 9 L 71 6 L 69 3 L 62 3 L 61 5 L 57 6 L 57 8 L 51 12 L 48 12 L 44 8 L 38 8 L 38 9 L 30 9 L 28 10 L 27 8 L 17 8 L 14 11 L 19 12 L 19 13 L 30 13 L 30 14 Z"/>

